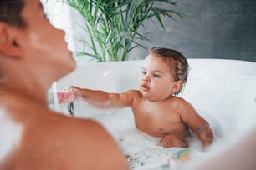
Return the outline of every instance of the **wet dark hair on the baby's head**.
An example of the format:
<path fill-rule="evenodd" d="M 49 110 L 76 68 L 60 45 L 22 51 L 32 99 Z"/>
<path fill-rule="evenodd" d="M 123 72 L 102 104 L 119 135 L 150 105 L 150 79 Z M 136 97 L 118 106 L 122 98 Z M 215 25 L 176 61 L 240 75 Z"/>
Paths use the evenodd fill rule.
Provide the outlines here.
<path fill-rule="evenodd" d="M 182 87 L 186 85 L 189 65 L 186 57 L 184 57 L 181 52 L 165 47 L 152 47 L 150 52 L 157 54 L 158 57 L 161 57 L 170 65 L 170 67 L 173 68 L 173 70 L 170 71 L 173 71 L 175 81 L 182 81 Z M 173 95 L 180 93 L 182 91 L 182 87 Z"/>

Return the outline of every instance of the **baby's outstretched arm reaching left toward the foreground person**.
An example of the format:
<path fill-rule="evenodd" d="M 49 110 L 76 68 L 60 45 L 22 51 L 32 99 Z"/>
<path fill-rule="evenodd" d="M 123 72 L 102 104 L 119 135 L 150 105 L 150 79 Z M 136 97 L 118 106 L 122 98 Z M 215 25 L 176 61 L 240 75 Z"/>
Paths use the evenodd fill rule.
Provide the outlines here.
<path fill-rule="evenodd" d="M 134 98 L 133 94 L 136 92 L 131 90 L 122 93 L 108 93 L 75 86 L 69 87 L 68 91 L 74 92 L 74 98 L 81 98 L 92 106 L 100 108 L 130 107 Z"/>

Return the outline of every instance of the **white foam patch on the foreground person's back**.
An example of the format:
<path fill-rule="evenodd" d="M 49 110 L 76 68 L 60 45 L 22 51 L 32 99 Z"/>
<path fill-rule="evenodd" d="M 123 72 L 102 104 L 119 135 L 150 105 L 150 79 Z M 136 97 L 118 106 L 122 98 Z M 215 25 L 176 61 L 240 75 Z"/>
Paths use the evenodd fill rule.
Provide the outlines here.
<path fill-rule="evenodd" d="M 8 113 L 0 109 L 0 162 L 18 146 L 23 134 L 23 127 L 14 122 Z"/>

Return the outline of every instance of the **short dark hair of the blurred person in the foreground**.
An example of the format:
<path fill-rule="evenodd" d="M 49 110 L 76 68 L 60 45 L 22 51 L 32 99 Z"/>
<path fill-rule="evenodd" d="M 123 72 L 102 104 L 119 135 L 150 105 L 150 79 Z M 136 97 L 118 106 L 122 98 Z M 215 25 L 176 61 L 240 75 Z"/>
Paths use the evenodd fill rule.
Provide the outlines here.
<path fill-rule="evenodd" d="M 23 0 L 0 0 L 0 22 L 25 28 L 26 23 L 21 16 L 23 6 Z"/>

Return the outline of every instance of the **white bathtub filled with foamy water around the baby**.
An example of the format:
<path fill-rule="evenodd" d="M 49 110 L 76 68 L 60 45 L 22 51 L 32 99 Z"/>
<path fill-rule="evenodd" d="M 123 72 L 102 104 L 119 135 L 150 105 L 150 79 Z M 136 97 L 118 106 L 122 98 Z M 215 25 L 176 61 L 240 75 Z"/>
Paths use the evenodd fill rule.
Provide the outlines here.
<path fill-rule="evenodd" d="M 56 88 L 76 85 L 107 92 L 137 89 L 142 62 L 105 62 L 79 66 L 75 72 L 56 82 Z M 255 62 L 188 59 L 188 63 L 191 71 L 187 85 L 179 96 L 192 103 L 197 112 L 210 122 L 215 140 L 207 151 L 201 148 L 196 138 L 189 141 L 191 159 L 175 165 L 176 168 L 187 170 L 200 167 L 209 160 L 211 162 L 211 159 L 223 154 L 256 129 Z M 68 115 L 65 104 L 55 105 L 54 109 Z M 130 108 L 98 110 L 84 102 L 74 102 L 74 112 L 75 117 L 90 117 L 101 122 L 120 143 L 133 169 L 168 169 L 168 158 L 181 149 L 161 148 L 157 146 L 157 138 L 137 131 Z M 255 151 L 252 148 L 252 152 L 253 149 Z M 255 158 L 256 152 L 252 154 Z M 250 166 L 256 166 L 250 163 Z"/>

